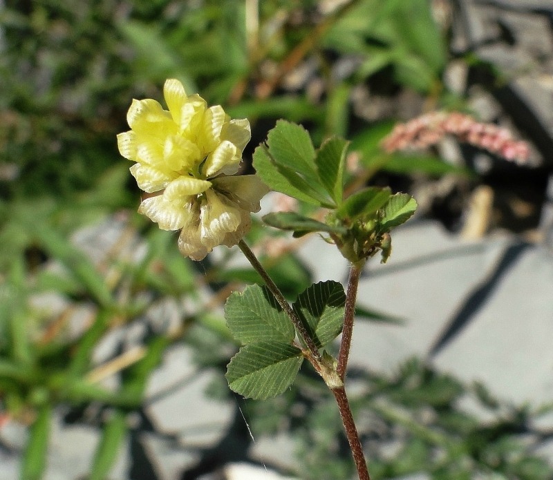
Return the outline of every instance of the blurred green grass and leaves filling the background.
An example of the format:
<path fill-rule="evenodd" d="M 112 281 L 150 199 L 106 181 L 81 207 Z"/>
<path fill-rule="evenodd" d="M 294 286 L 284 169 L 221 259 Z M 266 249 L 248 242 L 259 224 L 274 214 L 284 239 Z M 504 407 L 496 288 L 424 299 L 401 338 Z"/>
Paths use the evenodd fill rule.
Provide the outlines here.
<path fill-rule="evenodd" d="M 3 2 L 0 414 L 31 425 L 23 479 L 39 479 L 44 471 L 56 408 L 70 405 L 72 421 L 81 421 L 79 412 L 92 403 L 111 412 L 94 420 L 102 439 L 90 478 L 106 477 L 129 430 L 126 414 L 142 411 L 149 375 L 165 348 L 185 342 L 199 368 L 216 367 L 223 375 L 236 345 L 220 307 L 229 291 L 258 280 L 250 269 L 233 267 L 228 251 L 189 262 L 174 236 L 134 213 L 140 193 L 115 141 L 128 129 L 132 98 L 161 100 L 165 79 L 176 77 L 189 93 L 222 104 L 232 117 L 247 117 L 252 142 L 245 171 L 254 147 L 283 117 L 309 128 L 316 142 L 332 134 L 352 140 L 360 153 L 360 167 L 350 173 L 354 183 L 405 188 L 413 173 L 474 178 L 432 155 L 403 162 L 378 148 L 398 117 L 465 108 L 442 83 L 447 21 L 435 21 L 427 0 L 335 3 Z M 371 112 L 374 92 L 393 99 L 393 107 Z M 252 230 L 254 244 L 264 238 Z M 290 297 L 315 280 L 293 251 L 263 261 Z M 165 302 L 177 306 L 176 323 L 149 313 Z M 138 344 L 120 340 L 98 359 L 106 336 L 136 324 L 144 327 Z M 115 386 L 104 386 L 113 377 Z M 288 425 L 302 470 L 311 472 L 305 478 L 346 478 L 352 465 L 336 412 L 312 374 L 303 378 L 282 399 L 247 403 L 252 428 L 262 434 Z M 368 418 L 362 430 L 375 479 L 420 471 L 437 479 L 492 471 L 501 478 L 550 478 L 516 436 L 525 432 L 529 412 L 512 411 L 482 428 L 456 410 L 464 387 L 415 361 L 389 378 L 366 372 L 353 378 L 365 392 L 355 404 Z M 282 419 L 293 405 L 301 415 L 287 423 Z M 421 420 L 422 411 L 431 412 L 422 416 L 431 421 Z M 395 450 L 379 453 L 392 441 Z"/>

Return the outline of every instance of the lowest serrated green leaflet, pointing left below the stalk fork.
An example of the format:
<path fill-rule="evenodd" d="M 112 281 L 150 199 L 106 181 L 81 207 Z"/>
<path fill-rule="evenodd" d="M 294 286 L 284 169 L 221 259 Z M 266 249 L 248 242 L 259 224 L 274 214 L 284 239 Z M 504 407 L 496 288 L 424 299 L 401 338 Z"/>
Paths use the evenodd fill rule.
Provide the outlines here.
<path fill-rule="evenodd" d="M 232 357 L 225 377 L 248 399 L 270 399 L 292 384 L 302 361 L 301 350 L 288 343 L 251 343 Z"/>

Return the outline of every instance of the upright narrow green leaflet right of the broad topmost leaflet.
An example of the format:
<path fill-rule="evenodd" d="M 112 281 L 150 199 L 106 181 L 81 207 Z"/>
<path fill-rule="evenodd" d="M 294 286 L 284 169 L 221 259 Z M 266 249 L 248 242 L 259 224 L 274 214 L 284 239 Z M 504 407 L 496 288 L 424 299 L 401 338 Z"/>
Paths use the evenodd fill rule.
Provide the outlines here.
<path fill-rule="evenodd" d="M 332 200 L 341 203 L 344 187 L 344 163 L 348 142 L 343 138 L 332 137 L 317 151 L 315 164 L 319 177 Z"/>

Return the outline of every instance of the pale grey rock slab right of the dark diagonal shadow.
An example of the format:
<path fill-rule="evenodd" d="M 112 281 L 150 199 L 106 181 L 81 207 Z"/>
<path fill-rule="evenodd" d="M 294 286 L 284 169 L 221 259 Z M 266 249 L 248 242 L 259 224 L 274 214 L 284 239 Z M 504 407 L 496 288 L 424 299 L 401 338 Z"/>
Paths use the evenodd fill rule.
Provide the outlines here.
<path fill-rule="evenodd" d="M 529 247 L 434 365 L 516 404 L 550 401 L 552 285 L 552 253 Z"/>

